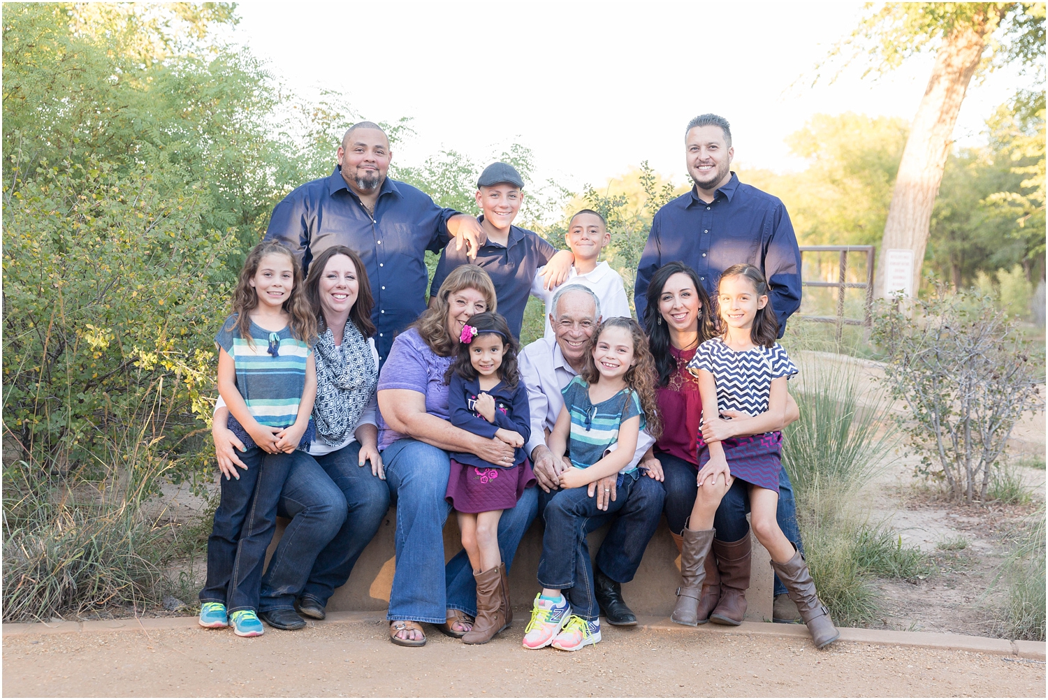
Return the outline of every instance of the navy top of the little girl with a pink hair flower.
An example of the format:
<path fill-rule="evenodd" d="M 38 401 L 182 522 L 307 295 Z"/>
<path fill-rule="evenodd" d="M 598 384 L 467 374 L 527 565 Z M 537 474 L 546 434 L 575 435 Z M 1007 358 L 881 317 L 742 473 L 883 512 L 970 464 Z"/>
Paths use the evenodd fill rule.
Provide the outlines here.
<path fill-rule="evenodd" d="M 518 380 L 512 389 L 504 381 L 495 385 L 494 389 L 484 392 L 490 394 L 495 399 L 495 422 L 489 423 L 487 419 L 474 410 L 477 397 L 481 394 L 480 382 L 477 379 L 463 379 L 458 374 L 452 375 L 451 385 L 447 388 L 447 410 L 451 413 L 451 423 L 456 428 L 461 428 L 467 433 L 479 435 L 480 437 L 493 438 L 500 428 L 507 431 L 517 431 L 524 438 L 527 444 L 531 437 L 531 413 L 528 409 L 527 389 L 524 388 L 523 379 Z M 497 469 L 507 468 L 499 464 L 477 457 L 468 452 L 453 452 L 451 454 L 459 464 L 468 464 L 480 468 L 494 466 Z M 527 455 L 523 447 L 517 447 L 514 452 L 514 466 L 524 461 Z"/>

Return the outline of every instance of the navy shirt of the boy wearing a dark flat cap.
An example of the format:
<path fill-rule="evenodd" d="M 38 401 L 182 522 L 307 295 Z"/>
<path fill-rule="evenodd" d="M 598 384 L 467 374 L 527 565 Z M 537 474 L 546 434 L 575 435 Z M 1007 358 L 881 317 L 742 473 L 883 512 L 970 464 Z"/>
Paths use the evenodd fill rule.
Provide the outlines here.
<path fill-rule="evenodd" d="M 480 221 L 484 220 L 481 216 Z M 495 284 L 495 293 L 499 300 L 499 313 L 506 320 L 509 332 L 515 337 L 521 336 L 521 326 L 524 324 L 524 307 L 531 293 L 531 283 L 536 271 L 556 255 L 554 248 L 539 234 L 509 226 L 509 237 L 506 245 L 488 239 L 477 251 L 477 259 L 471 261 L 465 256 L 465 246 L 456 250 L 454 245 L 447 245 L 440 254 L 437 271 L 433 276 L 430 296 L 440 289 L 447 276 L 459 265 L 474 263 L 484 268 Z"/>

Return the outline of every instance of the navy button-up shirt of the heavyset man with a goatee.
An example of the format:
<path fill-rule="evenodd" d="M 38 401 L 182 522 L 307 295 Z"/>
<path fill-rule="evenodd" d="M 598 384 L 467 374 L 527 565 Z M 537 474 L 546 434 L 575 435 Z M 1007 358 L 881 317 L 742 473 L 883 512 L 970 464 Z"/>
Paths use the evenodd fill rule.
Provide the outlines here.
<path fill-rule="evenodd" d="M 272 211 L 265 238 L 286 243 L 306 270 L 332 245 L 356 250 L 375 299 L 371 320 L 378 329 L 378 358 L 385 363 L 393 336 L 425 309 L 425 250 L 437 253 L 446 245 L 447 220 L 456 214 L 437 206 L 424 192 L 386 178 L 372 218 L 335 168 L 284 197 Z"/>

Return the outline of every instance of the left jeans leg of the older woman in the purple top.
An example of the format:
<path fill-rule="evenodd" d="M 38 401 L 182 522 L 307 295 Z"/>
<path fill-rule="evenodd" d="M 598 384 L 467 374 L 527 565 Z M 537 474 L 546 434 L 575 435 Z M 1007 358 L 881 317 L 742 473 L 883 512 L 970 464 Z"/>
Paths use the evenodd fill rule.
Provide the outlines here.
<path fill-rule="evenodd" d="M 447 619 L 444 521 L 447 453 L 413 438 L 383 451 L 386 483 L 396 504 L 396 570 L 387 619 L 441 625 Z"/>

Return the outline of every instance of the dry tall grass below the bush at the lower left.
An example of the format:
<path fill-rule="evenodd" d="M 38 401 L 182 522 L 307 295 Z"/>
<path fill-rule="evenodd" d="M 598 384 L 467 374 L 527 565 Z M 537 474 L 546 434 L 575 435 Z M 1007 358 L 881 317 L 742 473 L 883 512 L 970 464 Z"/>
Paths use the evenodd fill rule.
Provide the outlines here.
<path fill-rule="evenodd" d="M 4 465 L 5 621 L 160 603 L 179 543 L 151 496 L 175 463 L 156 442 L 143 428 L 69 472 L 31 458 Z"/>

